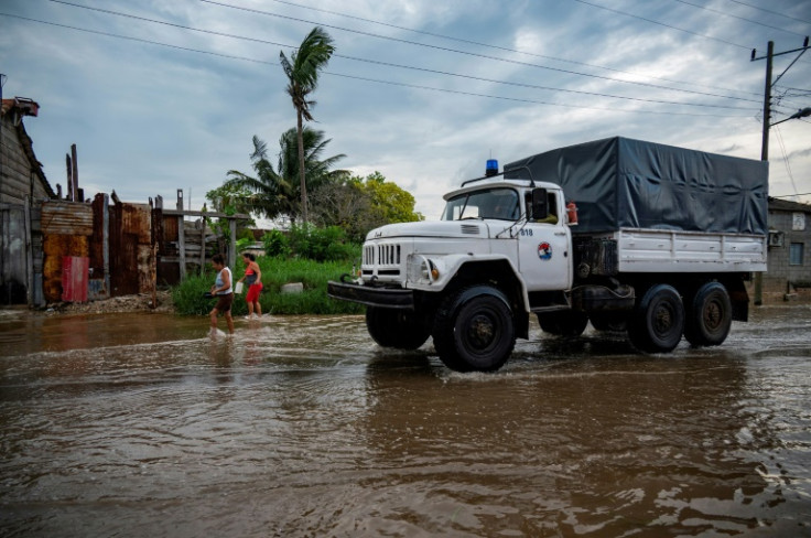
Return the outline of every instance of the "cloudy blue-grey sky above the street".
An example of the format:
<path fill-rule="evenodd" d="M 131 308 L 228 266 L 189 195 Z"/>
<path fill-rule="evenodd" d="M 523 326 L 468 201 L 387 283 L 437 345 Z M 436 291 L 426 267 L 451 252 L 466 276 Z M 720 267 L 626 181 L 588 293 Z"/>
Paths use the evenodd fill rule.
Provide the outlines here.
<path fill-rule="evenodd" d="M 314 95 L 327 155 L 439 217 L 501 164 L 614 136 L 760 159 L 766 61 L 802 47 L 811 0 L 2 0 L 3 97 L 52 185 L 78 147 L 87 197 L 193 208 L 295 125 L 279 52 L 337 47 Z M 811 107 L 811 52 L 775 57 L 772 123 Z M 785 74 L 783 74 L 785 72 Z M 770 194 L 811 193 L 811 117 L 771 128 Z M 272 160 L 275 162 L 275 157 Z M 787 200 L 811 202 L 811 195 Z"/>

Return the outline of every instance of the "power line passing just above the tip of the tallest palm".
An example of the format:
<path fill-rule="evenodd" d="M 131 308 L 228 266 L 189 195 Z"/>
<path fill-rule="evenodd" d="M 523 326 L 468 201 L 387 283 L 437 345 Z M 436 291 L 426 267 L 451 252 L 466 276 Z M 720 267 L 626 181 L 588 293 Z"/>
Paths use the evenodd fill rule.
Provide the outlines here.
<path fill-rule="evenodd" d="M 51 1 L 56 1 L 56 0 L 51 0 Z M 399 37 L 391 37 L 391 36 L 388 36 L 388 35 L 380 35 L 380 34 L 376 34 L 376 33 L 372 33 L 372 32 L 364 32 L 364 31 L 360 31 L 360 30 L 353 30 L 353 29 L 348 29 L 348 28 L 336 26 L 334 24 L 324 24 L 324 23 L 320 23 L 320 22 L 315 22 L 315 21 L 310 21 L 310 20 L 306 20 L 306 19 L 299 19 L 296 17 L 282 15 L 282 14 L 279 14 L 279 13 L 272 13 L 270 11 L 261 11 L 261 10 L 258 10 L 258 9 L 245 8 L 245 7 L 241 7 L 241 6 L 234 6 L 234 4 L 218 2 L 218 1 L 214 1 L 214 0 L 199 0 L 199 1 L 201 2 L 204 2 L 204 3 L 210 3 L 213 6 L 220 6 L 223 8 L 230 8 L 230 9 L 235 9 L 235 10 L 239 10 L 239 11 L 245 11 L 245 12 L 249 12 L 249 13 L 263 14 L 263 15 L 268 15 L 268 17 L 277 17 L 279 19 L 286 19 L 286 20 L 296 21 L 296 22 L 304 22 L 304 23 L 307 23 L 307 24 L 316 24 L 316 25 L 324 26 L 324 28 L 329 28 L 329 29 L 333 29 L 333 30 L 339 30 L 342 32 L 350 32 L 350 33 L 356 33 L 356 34 L 359 34 L 359 35 L 367 35 L 367 36 L 370 36 L 370 37 L 377 37 L 377 39 L 381 39 L 381 40 L 393 41 L 393 42 L 397 42 L 397 43 L 404 43 L 404 44 L 414 45 L 414 46 L 422 46 L 422 47 L 426 47 L 426 49 L 433 49 L 433 50 L 436 50 L 436 51 L 445 51 L 445 52 L 452 52 L 452 53 L 456 53 L 456 54 L 464 54 L 466 56 L 475 56 L 475 57 L 480 57 L 480 58 L 485 58 L 485 60 L 493 60 L 493 61 L 496 61 L 496 62 L 505 62 L 505 63 L 509 63 L 509 64 L 521 65 L 521 66 L 526 66 L 526 67 L 536 67 L 536 68 L 540 68 L 540 69 L 554 71 L 554 72 L 558 72 L 558 73 L 565 73 L 567 75 L 587 76 L 587 77 L 598 78 L 598 79 L 603 79 L 603 80 L 610 80 L 613 83 L 632 84 L 632 85 L 645 86 L 645 87 L 649 87 L 649 88 L 667 89 L 667 90 L 670 90 L 670 92 L 682 92 L 682 93 L 686 93 L 686 94 L 703 95 L 703 96 L 706 96 L 706 97 L 721 97 L 721 98 L 724 98 L 724 99 L 737 99 L 737 100 L 749 101 L 749 103 L 760 103 L 759 100 L 745 99 L 743 97 L 732 97 L 732 96 L 724 96 L 724 95 L 717 95 L 717 94 L 709 94 L 709 93 L 704 93 L 704 92 L 695 92 L 695 90 L 690 90 L 690 89 L 673 88 L 673 87 L 660 86 L 660 85 L 657 85 L 657 84 L 642 83 L 642 82 L 636 82 L 636 80 L 623 80 L 623 79 L 619 79 L 619 78 L 612 78 L 612 77 L 602 76 L 602 75 L 594 75 L 594 74 L 590 74 L 590 73 L 581 73 L 581 72 L 571 71 L 571 69 L 562 69 L 562 68 L 559 68 L 559 67 L 550 67 L 548 65 L 531 64 L 531 63 L 528 63 L 528 62 L 519 62 L 517 60 L 509 60 L 509 58 L 499 58 L 497 56 L 489 56 L 487 54 L 478 54 L 478 53 L 468 52 L 468 51 L 459 51 L 457 49 L 450 49 L 450 47 L 445 47 L 445 46 L 431 45 L 431 44 L 426 44 L 426 43 L 419 43 L 417 41 L 402 40 L 402 39 L 399 39 Z M 582 1 L 582 0 L 576 0 L 576 1 Z M 744 47 L 744 49 L 746 49 L 747 51 L 749 50 L 749 47 Z"/>

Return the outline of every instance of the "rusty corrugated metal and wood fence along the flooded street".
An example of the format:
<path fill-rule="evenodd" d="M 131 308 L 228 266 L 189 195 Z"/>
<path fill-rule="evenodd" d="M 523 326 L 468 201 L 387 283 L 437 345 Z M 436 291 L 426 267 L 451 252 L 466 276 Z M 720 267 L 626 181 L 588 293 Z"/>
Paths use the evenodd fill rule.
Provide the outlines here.
<path fill-rule="evenodd" d="M 236 220 L 247 215 L 164 211 L 162 205 L 160 196 L 154 204 L 151 198 L 131 204 L 115 193 L 112 201 L 97 194 L 90 204 L 0 204 L 0 304 L 42 306 L 153 293 L 158 284 L 179 283 L 190 269 L 202 270 L 226 244 L 234 265 Z M 186 220 L 190 216 L 197 218 Z M 207 228 L 205 216 L 228 218 L 230 241 Z"/>

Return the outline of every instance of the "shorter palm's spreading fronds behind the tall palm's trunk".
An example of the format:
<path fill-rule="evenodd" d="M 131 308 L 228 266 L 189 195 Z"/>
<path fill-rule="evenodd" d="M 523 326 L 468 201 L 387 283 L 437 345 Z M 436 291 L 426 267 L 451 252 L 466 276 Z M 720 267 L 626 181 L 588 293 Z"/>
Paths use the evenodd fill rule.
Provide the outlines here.
<path fill-rule="evenodd" d="M 250 155 L 256 176 L 237 170 L 228 171 L 228 179 L 223 183 L 226 189 L 245 189 L 252 193 L 244 202 L 250 211 L 266 218 L 288 215 L 295 220 L 302 214 L 301 193 L 298 179 L 300 175 L 299 143 L 296 128 L 284 132 L 279 139 L 279 161 L 277 169 L 268 159 L 268 144 L 259 137 L 253 137 L 253 153 Z M 302 130 L 304 169 L 313 186 L 336 181 L 348 174 L 344 170 L 329 170 L 344 154 L 321 160 L 321 154 L 331 142 L 324 138 L 324 131 L 304 127 Z"/>

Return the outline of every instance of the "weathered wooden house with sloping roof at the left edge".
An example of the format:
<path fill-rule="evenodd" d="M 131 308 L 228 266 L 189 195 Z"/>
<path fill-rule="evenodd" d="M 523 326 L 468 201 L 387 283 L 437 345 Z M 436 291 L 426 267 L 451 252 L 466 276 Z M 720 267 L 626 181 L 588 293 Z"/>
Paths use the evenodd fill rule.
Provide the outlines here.
<path fill-rule="evenodd" d="M 23 118 L 36 116 L 32 99 L 0 106 L 0 304 L 41 304 L 42 201 L 56 196 L 36 160 Z"/>

